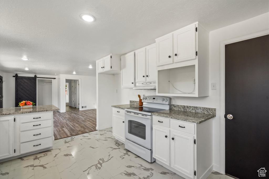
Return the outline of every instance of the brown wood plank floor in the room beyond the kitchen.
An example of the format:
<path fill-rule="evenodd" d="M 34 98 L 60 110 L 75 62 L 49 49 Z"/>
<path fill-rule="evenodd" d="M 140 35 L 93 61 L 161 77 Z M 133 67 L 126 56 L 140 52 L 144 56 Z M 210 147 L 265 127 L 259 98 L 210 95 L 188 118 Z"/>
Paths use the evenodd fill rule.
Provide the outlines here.
<path fill-rule="evenodd" d="M 66 106 L 66 112 L 53 112 L 54 138 L 61 139 L 96 130 L 96 109 L 82 110 Z"/>

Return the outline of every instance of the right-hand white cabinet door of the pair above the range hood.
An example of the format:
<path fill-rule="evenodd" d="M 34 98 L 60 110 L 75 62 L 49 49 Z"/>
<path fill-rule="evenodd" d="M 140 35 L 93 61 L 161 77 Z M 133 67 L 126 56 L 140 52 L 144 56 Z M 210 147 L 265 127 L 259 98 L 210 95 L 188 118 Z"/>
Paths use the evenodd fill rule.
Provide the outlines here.
<path fill-rule="evenodd" d="M 156 44 L 146 47 L 146 81 L 156 81 Z"/>

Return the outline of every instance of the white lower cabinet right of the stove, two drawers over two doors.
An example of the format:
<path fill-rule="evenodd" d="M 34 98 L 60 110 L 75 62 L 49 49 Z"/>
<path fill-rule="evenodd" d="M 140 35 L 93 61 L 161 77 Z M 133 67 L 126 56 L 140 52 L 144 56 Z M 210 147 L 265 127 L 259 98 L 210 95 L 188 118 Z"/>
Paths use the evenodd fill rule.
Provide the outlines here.
<path fill-rule="evenodd" d="M 153 116 L 153 157 L 187 179 L 206 179 L 213 170 L 212 120 L 196 124 Z"/>

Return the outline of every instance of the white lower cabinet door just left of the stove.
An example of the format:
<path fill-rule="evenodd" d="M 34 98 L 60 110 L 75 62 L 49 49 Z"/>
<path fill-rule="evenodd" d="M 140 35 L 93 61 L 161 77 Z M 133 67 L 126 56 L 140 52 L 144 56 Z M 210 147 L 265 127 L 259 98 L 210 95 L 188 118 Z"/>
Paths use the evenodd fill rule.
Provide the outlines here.
<path fill-rule="evenodd" d="M 125 141 L 124 117 L 112 114 L 112 134 Z"/>

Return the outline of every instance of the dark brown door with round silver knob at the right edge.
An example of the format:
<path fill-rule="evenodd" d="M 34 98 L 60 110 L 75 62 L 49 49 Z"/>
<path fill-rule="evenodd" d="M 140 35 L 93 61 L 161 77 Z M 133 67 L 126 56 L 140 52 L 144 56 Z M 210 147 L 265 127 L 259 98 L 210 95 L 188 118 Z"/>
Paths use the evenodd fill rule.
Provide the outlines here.
<path fill-rule="evenodd" d="M 225 45 L 225 173 L 240 179 L 269 178 L 268 39 Z"/>

